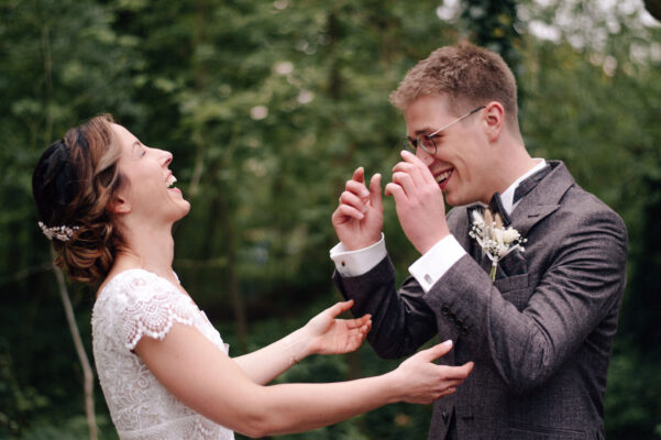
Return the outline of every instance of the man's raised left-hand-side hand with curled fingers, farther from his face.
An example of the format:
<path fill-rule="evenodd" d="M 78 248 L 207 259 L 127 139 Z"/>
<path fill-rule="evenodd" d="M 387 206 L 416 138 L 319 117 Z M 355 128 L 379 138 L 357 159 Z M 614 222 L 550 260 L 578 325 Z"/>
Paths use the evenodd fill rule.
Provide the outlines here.
<path fill-rule="evenodd" d="M 346 182 L 340 196 L 340 205 L 332 215 L 338 239 L 348 251 L 367 248 L 381 240 L 383 230 L 383 201 L 381 174 L 365 186 L 365 170 L 359 167 Z"/>

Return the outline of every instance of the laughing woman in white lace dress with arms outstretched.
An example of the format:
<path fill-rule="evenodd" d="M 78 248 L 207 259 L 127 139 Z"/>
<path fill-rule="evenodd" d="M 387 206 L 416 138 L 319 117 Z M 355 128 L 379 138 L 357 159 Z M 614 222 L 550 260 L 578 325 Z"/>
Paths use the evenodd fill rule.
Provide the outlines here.
<path fill-rule="evenodd" d="M 273 378 L 312 353 L 360 346 L 371 317 L 335 317 L 339 302 L 273 344 L 228 355 L 173 272 L 173 224 L 189 202 L 174 187 L 170 153 L 148 147 L 110 116 L 69 130 L 33 174 L 40 227 L 56 264 L 99 285 L 92 309 L 97 371 L 121 439 L 232 439 L 298 432 L 395 402 L 454 393 L 473 364 L 437 365 L 447 341 L 375 377 L 330 384 Z"/>

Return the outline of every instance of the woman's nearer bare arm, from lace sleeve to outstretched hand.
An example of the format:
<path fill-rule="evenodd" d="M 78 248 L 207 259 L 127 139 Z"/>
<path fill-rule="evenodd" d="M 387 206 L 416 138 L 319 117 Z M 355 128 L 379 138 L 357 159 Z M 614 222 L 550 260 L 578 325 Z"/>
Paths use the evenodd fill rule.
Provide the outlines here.
<path fill-rule="evenodd" d="M 262 386 L 195 327 L 175 323 L 163 340 L 142 338 L 135 352 L 186 406 L 251 437 L 331 425 L 394 402 L 429 404 L 453 393 L 472 369 L 436 365 L 451 349 L 439 344 L 387 374 L 333 384 Z"/>

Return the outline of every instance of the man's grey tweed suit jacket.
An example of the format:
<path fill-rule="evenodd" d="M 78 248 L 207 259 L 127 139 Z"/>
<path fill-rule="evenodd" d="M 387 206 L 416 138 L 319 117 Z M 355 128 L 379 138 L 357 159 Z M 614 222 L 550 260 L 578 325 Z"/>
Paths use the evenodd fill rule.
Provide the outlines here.
<path fill-rule="evenodd" d="M 430 439 L 604 438 L 627 231 L 564 164 L 549 165 L 510 216 L 526 251 L 500 261 L 495 283 L 469 238 L 467 207 L 448 223 L 469 255 L 429 293 L 414 278 L 397 290 L 388 257 L 364 275 L 333 276 L 354 315 L 372 314 L 367 340 L 381 356 L 410 355 L 438 334 L 454 341 L 441 363 L 475 362 L 456 393 L 436 402 Z"/>

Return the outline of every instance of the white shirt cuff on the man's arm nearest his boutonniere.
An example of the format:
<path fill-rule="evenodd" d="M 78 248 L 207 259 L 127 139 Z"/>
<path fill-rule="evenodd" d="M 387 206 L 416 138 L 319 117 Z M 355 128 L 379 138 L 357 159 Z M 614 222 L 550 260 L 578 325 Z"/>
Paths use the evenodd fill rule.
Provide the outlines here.
<path fill-rule="evenodd" d="M 454 263 L 466 254 L 454 235 L 448 235 L 433 245 L 408 268 L 427 294 Z"/>

